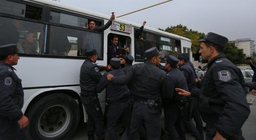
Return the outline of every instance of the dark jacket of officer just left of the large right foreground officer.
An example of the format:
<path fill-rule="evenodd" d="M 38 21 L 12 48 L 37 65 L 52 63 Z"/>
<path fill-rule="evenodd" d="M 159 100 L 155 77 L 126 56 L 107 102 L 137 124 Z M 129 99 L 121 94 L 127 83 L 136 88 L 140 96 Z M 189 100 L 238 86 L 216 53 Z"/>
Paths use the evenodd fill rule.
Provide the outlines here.
<path fill-rule="evenodd" d="M 186 77 L 188 90 L 191 91 L 192 89 L 197 88 L 196 77 L 194 73 L 195 69 L 191 68 L 188 63 L 184 63 L 179 67 L 179 69 Z"/>

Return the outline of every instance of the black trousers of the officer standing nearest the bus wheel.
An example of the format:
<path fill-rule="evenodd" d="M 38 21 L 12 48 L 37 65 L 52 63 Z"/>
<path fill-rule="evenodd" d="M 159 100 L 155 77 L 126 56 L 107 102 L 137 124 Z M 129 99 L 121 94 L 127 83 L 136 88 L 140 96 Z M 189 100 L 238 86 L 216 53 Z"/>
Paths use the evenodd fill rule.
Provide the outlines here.
<path fill-rule="evenodd" d="M 104 138 L 104 121 L 103 113 L 97 97 L 83 97 L 81 96 L 81 101 L 86 108 L 86 113 L 88 116 L 87 129 L 88 135 L 96 135 L 99 139 Z"/>

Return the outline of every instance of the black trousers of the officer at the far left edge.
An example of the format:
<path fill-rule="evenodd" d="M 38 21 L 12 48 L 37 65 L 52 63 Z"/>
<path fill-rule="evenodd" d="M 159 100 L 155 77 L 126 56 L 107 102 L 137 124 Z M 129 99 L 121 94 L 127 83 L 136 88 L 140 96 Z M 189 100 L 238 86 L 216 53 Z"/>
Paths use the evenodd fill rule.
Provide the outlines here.
<path fill-rule="evenodd" d="M 0 118 L 0 140 L 26 140 L 26 135 L 17 121 Z"/>

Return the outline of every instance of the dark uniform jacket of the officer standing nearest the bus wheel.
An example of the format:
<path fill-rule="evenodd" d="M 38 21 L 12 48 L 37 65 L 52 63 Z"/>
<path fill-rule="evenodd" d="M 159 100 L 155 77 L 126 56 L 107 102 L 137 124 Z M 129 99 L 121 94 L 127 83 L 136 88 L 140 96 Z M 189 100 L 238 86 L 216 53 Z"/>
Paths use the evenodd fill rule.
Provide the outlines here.
<path fill-rule="evenodd" d="M 96 86 L 101 76 L 98 65 L 86 58 L 80 69 L 81 95 L 95 95 Z"/>

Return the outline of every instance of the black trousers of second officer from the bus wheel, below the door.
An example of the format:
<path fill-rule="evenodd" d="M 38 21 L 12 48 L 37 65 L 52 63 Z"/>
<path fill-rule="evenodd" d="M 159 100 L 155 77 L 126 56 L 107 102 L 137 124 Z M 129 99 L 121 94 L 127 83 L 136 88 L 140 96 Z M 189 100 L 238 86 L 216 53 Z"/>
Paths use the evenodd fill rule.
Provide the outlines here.
<path fill-rule="evenodd" d="M 111 140 L 116 140 L 118 138 L 115 128 L 119 119 L 121 119 L 124 128 L 128 127 L 130 117 L 129 109 L 131 109 L 130 99 L 127 99 L 127 101 L 110 103 L 108 106 L 108 121 L 106 126 Z"/>

